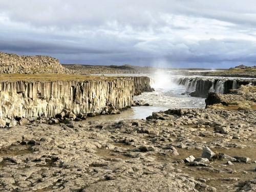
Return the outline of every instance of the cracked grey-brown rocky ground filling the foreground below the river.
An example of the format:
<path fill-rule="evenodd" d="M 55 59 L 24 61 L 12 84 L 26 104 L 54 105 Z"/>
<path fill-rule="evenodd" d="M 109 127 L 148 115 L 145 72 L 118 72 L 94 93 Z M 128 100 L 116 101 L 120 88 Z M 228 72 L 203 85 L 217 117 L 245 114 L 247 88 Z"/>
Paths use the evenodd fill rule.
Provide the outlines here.
<path fill-rule="evenodd" d="M 255 117 L 182 109 L 147 120 L 4 128 L 0 190 L 255 191 Z"/>

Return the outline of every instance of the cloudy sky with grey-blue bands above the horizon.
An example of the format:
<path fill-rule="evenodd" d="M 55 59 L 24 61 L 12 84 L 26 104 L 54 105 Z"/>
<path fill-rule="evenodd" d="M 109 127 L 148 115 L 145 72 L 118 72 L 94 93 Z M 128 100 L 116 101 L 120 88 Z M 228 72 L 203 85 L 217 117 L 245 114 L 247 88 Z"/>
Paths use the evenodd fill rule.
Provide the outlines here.
<path fill-rule="evenodd" d="M 61 63 L 256 65 L 255 0 L 0 0 L 0 51 Z"/>

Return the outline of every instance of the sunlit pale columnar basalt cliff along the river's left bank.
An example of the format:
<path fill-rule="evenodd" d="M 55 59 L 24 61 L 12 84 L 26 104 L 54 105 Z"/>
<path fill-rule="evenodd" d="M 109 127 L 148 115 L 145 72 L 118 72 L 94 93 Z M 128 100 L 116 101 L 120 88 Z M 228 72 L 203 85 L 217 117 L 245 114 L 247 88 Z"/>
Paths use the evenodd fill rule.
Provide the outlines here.
<path fill-rule="evenodd" d="M 62 109 L 70 109 L 74 114 L 100 114 L 108 105 L 120 110 L 130 107 L 137 90 L 149 88 L 149 82 L 148 77 L 1 82 L 0 119 L 10 122 L 13 118 L 55 117 Z"/>

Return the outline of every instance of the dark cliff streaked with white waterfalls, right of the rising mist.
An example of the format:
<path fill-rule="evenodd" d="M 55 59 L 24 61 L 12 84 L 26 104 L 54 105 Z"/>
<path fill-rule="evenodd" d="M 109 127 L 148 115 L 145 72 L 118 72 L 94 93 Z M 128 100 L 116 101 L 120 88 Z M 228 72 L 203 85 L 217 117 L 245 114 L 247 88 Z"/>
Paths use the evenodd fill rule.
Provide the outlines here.
<path fill-rule="evenodd" d="M 186 93 L 191 96 L 206 97 L 208 93 L 215 92 L 227 94 L 229 90 L 238 89 L 242 85 L 256 84 L 255 79 L 227 79 L 227 78 L 203 78 L 203 77 L 182 77 L 176 78 L 177 84 L 186 88 Z"/>

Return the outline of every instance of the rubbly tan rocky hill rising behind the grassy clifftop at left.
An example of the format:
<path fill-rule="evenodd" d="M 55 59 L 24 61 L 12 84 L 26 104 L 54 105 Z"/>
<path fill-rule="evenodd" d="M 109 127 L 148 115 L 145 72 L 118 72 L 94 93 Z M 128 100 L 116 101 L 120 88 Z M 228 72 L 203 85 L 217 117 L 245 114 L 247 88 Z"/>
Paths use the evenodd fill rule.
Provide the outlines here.
<path fill-rule="evenodd" d="M 0 73 L 74 73 L 49 56 L 19 56 L 0 52 Z"/>

